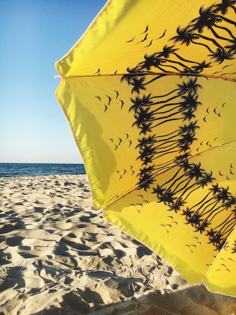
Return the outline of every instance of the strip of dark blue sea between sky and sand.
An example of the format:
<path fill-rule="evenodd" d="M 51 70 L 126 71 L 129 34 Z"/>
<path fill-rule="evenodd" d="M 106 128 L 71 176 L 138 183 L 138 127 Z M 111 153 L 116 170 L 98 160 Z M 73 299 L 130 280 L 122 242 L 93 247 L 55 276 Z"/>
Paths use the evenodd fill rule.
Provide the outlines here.
<path fill-rule="evenodd" d="M 0 177 L 81 175 L 83 164 L 0 163 Z"/>

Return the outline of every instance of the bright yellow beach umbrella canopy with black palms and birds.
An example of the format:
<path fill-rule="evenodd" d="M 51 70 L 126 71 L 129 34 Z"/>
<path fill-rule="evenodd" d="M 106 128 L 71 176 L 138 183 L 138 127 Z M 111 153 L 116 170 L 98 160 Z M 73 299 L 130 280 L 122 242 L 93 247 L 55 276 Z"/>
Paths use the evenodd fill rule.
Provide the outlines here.
<path fill-rule="evenodd" d="M 236 296 L 236 1 L 110 0 L 56 69 L 93 204 Z"/>

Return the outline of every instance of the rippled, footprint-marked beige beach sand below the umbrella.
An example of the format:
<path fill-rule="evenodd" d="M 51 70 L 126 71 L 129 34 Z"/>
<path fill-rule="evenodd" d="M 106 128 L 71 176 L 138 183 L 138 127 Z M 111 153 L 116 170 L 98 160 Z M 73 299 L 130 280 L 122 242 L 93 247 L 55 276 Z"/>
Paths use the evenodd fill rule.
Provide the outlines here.
<path fill-rule="evenodd" d="M 107 223 L 86 175 L 0 183 L 0 315 L 236 314 Z"/>

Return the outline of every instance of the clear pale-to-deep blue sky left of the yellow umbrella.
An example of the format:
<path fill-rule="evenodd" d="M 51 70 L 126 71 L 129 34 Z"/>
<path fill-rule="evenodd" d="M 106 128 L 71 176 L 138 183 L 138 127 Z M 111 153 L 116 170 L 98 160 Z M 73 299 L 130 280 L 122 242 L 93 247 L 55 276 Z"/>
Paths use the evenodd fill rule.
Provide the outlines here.
<path fill-rule="evenodd" d="M 0 1 L 0 163 L 82 163 L 55 98 L 55 62 L 105 3 Z"/>

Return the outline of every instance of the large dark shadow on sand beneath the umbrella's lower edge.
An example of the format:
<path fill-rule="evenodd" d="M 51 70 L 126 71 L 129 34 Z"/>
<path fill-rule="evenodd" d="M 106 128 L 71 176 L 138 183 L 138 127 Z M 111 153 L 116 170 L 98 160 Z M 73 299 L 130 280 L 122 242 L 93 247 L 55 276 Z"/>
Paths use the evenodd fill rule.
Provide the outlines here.
<path fill-rule="evenodd" d="M 71 291 L 62 296 L 60 307 L 44 309 L 32 315 L 234 315 L 236 299 L 209 292 L 203 285 L 180 291 L 153 290 L 139 298 L 102 304 L 97 292 L 87 288 L 83 292 Z"/>

